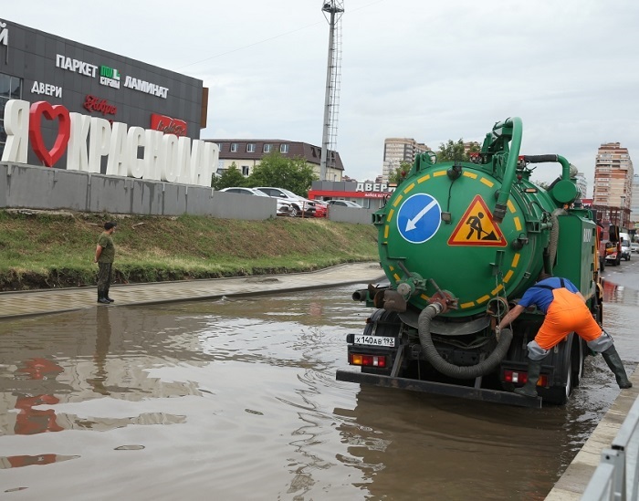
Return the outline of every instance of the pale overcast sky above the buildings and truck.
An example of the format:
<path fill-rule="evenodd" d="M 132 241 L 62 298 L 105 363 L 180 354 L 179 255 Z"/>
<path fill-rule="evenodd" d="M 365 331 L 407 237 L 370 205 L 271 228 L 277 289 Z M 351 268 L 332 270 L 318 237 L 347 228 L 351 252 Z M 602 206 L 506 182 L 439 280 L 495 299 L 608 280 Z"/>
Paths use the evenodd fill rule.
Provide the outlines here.
<path fill-rule="evenodd" d="M 329 24 L 322 0 L 5 2 L 0 16 L 204 80 L 202 139 L 321 145 Z M 344 0 L 337 150 L 360 181 L 383 141 L 434 150 L 523 120 L 522 153 L 559 153 L 592 194 L 597 148 L 639 170 L 636 0 Z M 560 175 L 539 166 L 538 181 Z"/>

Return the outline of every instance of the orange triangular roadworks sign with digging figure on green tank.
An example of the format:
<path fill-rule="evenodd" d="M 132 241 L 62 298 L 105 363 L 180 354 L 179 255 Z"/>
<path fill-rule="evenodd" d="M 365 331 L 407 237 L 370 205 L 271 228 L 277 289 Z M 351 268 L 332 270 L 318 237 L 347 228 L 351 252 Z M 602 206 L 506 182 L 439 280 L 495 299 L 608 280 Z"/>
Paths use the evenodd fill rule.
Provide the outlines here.
<path fill-rule="evenodd" d="M 468 205 L 466 213 L 448 239 L 448 245 L 487 245 L 505 247 L 506 238 L 493 221 L 493 214 L 480 195 Z"/>

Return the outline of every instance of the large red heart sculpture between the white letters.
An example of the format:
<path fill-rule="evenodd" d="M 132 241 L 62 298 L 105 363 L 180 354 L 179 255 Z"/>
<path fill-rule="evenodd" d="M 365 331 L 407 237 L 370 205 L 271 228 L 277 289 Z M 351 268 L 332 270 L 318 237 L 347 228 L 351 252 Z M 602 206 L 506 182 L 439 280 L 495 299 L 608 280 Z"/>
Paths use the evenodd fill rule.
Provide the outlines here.
<path fill-rule="evenodd" d="M 58 119 L 58 137 L 53 144 L 51 151 L 47 150 L 45 141 L 42 139 L 42 117 L 47 120 Z M 67 151 L 68 138 L 71 135 L 71 117 L 68 110 L 61 104 L 52 106 L 47 101 L 37 101 L 31 105 L 29 110 L 29 141 L 31 149 L 36 153 L 47 167 L 52 167 L 60 157 Z"/>

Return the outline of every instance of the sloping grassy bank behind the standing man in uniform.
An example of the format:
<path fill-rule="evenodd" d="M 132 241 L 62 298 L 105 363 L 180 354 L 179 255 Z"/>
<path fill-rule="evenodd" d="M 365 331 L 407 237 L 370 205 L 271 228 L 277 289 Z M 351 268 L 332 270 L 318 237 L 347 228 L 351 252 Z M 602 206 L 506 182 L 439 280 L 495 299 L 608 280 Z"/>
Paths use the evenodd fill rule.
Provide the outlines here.
<path fill-rule="evenodd" d="M 372 224 L 7 210 L 0 211 L 0 290 L 94 285 L 95 247 L 109 220 L 118 223 L 114 272 L 120 283 L 288 273 L 378 260 Z"/>

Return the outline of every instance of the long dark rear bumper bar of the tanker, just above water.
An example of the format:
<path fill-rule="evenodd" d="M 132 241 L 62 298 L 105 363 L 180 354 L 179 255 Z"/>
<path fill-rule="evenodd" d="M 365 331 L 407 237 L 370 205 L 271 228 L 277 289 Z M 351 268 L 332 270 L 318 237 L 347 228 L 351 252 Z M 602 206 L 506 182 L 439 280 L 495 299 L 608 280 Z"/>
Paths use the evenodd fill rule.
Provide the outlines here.
<path fill-rule="evenodd" d="M 422 391 L 424 393 L 435 393 L 437 395 L 448 395 L 483 402 L 503 403 L 506 405 L 517 405 L 519 407 L 531 407 L 536 409 L 541 408 L 541 397 L 524 397 L 517 393 L 510 393 L 508 391 L 471 388 L 468 386 L 457 386 L 455 384 L 446 384 L 443 382 L 418 381 L 393 376 L 341 370 L 337 371 L 335 379 L 337 381 L 359 382 L 361 384 L 371 384 L 373 386 L 382 386 L 384 388 L 399 388 L 408 391 Z"/>

